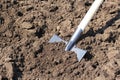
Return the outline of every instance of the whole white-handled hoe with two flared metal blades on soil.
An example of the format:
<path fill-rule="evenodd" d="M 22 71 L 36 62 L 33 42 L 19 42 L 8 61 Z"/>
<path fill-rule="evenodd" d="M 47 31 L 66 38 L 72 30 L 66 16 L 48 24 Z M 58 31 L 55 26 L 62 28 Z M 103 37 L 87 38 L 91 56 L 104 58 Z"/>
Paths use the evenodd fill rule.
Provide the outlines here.
<path fill-rule="evenodd" d="M 76 42 L 81 36 L 81 33 L 84 31 L 85 27 L 88 25 L 96 11 L 99 9 L 99 6 L 102 4 L 103 0 L 95 0 L 88 12 L 86 13 L 85 17 L 81 21 L 81 23 L 78 25 L 78 28 L 76 29 L 75 33 L 71 37 L 70 41 L 67 42 L 63 39 L 61 39 L 57 35 L 53 35 L 53 37 L 50 39 L 49 43 L 54 43 L 54 42 L 64 42 L 67 46 L 65 48 L 65 51 L 74 51 L 77 54 L 78 61 L 80 61 L 85 53 L 87 52 L 86 50 L 82 50 L 78 47 L 76 47 Z"/>

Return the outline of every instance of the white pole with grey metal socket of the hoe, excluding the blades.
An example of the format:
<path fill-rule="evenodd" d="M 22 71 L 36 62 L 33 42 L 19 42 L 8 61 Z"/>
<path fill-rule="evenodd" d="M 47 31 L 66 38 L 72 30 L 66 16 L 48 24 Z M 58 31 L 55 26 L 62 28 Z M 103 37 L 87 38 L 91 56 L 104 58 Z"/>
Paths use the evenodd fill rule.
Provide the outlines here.
<path fill-rule="evenodd" d="M 73 46 L 76 44 L 77 40 L 80 38 L 80 34 L 84 31 L 85 27 L 88 25 L 96 11 L 99 9 L 99 6 L 102 4 L 104 0 L 95 0 L 88 12 L 86 13 L 85 17 L 81 21 L 81 23 L 78 25 L 77 30 L 71 37 L 70 41 L 68 42 L 65 51 L 70 51 Z"/>

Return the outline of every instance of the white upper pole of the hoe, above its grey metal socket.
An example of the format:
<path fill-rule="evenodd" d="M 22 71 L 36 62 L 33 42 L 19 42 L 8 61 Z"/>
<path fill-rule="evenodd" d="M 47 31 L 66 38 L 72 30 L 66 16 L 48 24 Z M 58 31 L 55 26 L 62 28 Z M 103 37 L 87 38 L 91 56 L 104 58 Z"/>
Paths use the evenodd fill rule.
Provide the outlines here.
<path fill-rule="evenodd" d="M 85 29 L 85 27 L 88 25 L 96 11 L 99 9 L 99 6 L 102 4 L 104 0 L 95 0 L 88 12 L 86 13 L 85 17 L 81 21 L 81 23 L 78 25 L 78 29 L 82 29 L 82 31 Z"/>

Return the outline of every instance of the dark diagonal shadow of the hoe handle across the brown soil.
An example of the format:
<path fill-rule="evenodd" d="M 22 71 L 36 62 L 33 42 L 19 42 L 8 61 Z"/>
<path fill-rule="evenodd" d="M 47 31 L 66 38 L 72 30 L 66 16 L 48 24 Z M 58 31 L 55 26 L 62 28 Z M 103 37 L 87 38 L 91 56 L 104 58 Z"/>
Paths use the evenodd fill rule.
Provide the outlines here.
<path fill-rule="evenodd" d="M 117 14 L 114 18 L 112 18 L 112 19 L 110 19 L 109 21 L 106 22 L 106 25 L 105 25 L 105 26 L 103 26 L 102 28 L 98 29 L 98 30 L 95 31 L 95 32 L 94 32 L 93 28 L 90 28 L 89 31 L 87 31 L 87 33 L 83 34 L 78 41 L 80 41 L 80 40 L 82 40 L 82 39 L 84 39 L 84 38 L 86 38 L 86 37 L 95 36 L 96 34 L 99 34 L 99 33 L 100 33 L 100 34 L 103 34 L 104 31 L 105 31 L 108 27 L 110 27 L 112 24 L 114 24 L 117 20 L 120 19 L 120 10 L 117 10 L 117 13 L 118 13 L 118 14 Z M 112 14 L 112 13 L 111 13 L 111 14 Z"/>

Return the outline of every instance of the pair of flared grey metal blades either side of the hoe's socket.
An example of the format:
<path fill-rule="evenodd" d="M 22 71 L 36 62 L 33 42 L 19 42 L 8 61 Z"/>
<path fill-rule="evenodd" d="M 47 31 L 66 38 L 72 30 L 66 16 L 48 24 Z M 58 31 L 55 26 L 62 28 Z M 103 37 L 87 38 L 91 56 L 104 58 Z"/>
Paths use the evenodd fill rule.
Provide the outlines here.
<path fill-rule="evenodd" d="M 56 34 L 52 36 L 52 38 L 49 40 L 49 43 L 55 43 L 55 42 L 64 42 L 67 45 L 67 41 L 61 39 L 59 36 Z M 77 59 L 80 61 L 84 55 L 86 54 L 86 50 L 82 50 L 76 46 L 74 46 L 70 51 L 74 51 L 77 54 Z"/>

